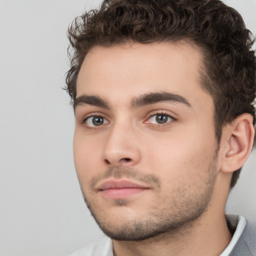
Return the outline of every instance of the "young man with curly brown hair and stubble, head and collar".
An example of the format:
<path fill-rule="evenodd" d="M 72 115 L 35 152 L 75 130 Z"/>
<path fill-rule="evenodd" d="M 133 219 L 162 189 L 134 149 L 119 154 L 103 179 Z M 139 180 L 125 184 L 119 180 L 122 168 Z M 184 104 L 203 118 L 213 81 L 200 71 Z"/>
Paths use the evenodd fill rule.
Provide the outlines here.
<path fill-rule="evenodd" d="M 224 212 L 254 138 L 241 16 L 218 0 L 105 0 L 69 39 L 74 162 L 106 234 L 72 255 L 256 255 Z"/>

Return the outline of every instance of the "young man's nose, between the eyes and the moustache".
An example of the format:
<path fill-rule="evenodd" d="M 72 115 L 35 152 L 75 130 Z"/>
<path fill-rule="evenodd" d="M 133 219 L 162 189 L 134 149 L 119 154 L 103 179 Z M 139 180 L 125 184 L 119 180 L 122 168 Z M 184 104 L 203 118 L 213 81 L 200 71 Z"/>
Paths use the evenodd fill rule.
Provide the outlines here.
<path fill-rule="evenodd" d="M 134 166 L 140 161 L 136 130 L 130 125 L 115 124 L 107 134 L 102 160 L 108 166 Z"/>

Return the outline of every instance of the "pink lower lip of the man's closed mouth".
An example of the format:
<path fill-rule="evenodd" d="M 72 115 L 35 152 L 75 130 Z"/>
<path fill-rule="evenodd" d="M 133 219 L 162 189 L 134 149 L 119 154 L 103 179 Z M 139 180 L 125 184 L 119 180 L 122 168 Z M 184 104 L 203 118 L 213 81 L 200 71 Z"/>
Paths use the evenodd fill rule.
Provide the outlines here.
<path fill-rule="evenodd" d="M 138 187 L 127 187 L 127 188 L 109 188 L 105 190 L 101 190 L 102 196 L 110 199 L 122 199 L 126 198 L 130 195 L 141 193 L 146 188 L 138 188 Z"/>

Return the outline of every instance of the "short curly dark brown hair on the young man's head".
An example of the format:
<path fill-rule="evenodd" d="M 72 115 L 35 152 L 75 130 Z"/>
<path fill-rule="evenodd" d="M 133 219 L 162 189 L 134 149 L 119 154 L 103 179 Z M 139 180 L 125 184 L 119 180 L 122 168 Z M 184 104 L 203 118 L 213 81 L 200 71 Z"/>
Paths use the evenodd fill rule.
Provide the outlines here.
<path fill-rule="evenodd" d="M 254 38 L 240 14 L 220 0 L 104 0 L 76 17 L 68 28 L 70 69 L 66 90 L 76 97 L 76 79 L 95 45 L 189 40 L 203 52 L 202 88 L 213 98 L 216 140 L 222 125 L 241 113 L 254 118 Z M 239 177 L 234 171 L 230 188 Z"/>

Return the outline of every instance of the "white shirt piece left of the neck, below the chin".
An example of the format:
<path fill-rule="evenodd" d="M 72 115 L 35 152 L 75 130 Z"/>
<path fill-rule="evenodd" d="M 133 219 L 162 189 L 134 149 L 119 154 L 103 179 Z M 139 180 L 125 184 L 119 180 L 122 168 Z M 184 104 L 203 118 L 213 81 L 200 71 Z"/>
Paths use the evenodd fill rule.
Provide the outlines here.
<path fill-rule="evenodd" d="M 69 256 L 113 256 L 112 240 L 103 235 L 74 251 Z"/>

